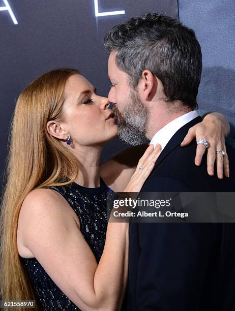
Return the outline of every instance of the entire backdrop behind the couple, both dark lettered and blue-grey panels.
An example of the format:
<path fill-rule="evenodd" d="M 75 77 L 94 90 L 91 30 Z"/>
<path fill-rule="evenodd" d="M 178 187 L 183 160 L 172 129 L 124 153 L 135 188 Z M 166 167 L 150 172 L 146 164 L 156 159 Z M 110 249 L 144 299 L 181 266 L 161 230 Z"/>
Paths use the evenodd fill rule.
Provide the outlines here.
<path fill-rule="evenodd" d="M 192 27 L 202 47 L 200 111 L 217 110 L 235 137 L 235 2 L 234 0 L 0 0 L 0 174 L 3 172 L 10 119 L 19 92 L 45 71 L 74 67 L 107 96 L 107 54 L 103 37 L 116 23 L 144 12 L 178 17 Z M 9 10 L 3 9 L 9 4 Z M 121 15 L 104 12 L 125 11 Z M 112 13 L 108 13 L 112 14 Z M 18 24 L 14 24 L 15 22 Z M 102 161 L 125 145 L 108 143 Z"/>

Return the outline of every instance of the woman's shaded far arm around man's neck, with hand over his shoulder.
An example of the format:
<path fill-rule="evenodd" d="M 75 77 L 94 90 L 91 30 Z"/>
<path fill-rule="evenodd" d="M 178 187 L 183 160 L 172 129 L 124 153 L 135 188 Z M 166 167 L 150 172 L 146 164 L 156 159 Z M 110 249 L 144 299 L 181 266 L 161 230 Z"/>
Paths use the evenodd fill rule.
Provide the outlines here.
<path fill-rule="evenodd" d="M 230 133 L 230 126 L 226 117 L 219 112 L 210 112 L 203 116 L 203 121 L 192 127 L 182 142 L 182 146 L 188 145 L 193 139 L 197 141 L 205 138 L 209 141 L 207 162 L 208 174 L 214 174 L 215 162 L 217 165 L 218 178 L 223 178 L 223 171 L 226 177 L 229 177 L 228 158 L 225 154 L 216 154 L 216 150 L 226 152 L 225 137 Z M 140 158 L 148 144 L 129 147 L 115 154 L 109 161 L 100 166 L 100 174 L 106 184 L 115 192 L 122 192 L 129 182 Z M 200 165 L 205 147 L 197 145 L 195 164 Z"/>

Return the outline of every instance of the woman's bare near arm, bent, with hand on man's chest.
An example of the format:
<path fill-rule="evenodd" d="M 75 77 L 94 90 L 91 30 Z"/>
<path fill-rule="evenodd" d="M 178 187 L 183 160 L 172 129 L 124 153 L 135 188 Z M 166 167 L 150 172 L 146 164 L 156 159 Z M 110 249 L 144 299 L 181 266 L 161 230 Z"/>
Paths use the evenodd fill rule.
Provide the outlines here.
<path fill-rule="evenodd" d="M 125 189 L 139 192 L 160 148 L 149 147 Z M 76 216 L 76 215 L 75 215 Z M 25 198 L 18 222 L 24 246 L 54 283 L 82 310 L 119 310 L 127 284 L 128 223 L 108 223 L 104 251 L 97 264 L 68 202 L 50 189 Z"/>

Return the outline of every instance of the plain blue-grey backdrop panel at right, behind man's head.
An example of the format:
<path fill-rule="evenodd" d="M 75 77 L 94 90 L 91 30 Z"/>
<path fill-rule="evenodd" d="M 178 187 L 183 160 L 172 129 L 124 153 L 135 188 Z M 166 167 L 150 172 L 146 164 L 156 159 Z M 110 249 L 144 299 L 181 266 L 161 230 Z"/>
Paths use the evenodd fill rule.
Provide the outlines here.
<path fill-rule="evenodd" d="M 200 111 L 220 111 L 231 126 L 235 148 L 235 1 L 179 0 L 179 18 L 197 35 L 203 69 L 199 87 Z"/>

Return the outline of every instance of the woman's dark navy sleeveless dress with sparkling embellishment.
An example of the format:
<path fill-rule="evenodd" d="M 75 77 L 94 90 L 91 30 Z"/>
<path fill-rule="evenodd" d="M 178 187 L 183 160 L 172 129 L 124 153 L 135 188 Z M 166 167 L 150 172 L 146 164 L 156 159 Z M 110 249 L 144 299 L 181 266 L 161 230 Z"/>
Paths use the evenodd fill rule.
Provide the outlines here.
<path fill-rule="evenodd" d="M 113 191 L 102 179 L 99 188 L 85 188 L 75 182 L 70 185 L 46 188 L 60 193 L 73 208 L 80 222 L 80 231 L 99 263 L 107 230 L 107 200 L 112 197 Z M 56 286 L 36 258 L 20 257 L 20 259 L 44 310 L 80 310 Z"/>

